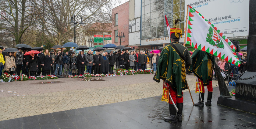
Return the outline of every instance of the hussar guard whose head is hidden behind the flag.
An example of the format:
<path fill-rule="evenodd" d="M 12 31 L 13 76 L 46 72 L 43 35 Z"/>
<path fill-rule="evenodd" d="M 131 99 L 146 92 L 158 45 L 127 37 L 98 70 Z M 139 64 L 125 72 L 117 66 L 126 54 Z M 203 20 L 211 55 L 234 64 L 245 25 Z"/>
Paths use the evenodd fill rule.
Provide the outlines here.
<path fill-rule="evenodd" d="M 191 59 L 192 64 L 188 71 L 190 73 L 193 72 L 195 76 L 197 76 L 199 85 L 196 86 L 196 92 L 201 92 L 201 98 L 199 95 L 198 103 L 195 103 L 194 105 L 204 107 L 204 86 L 207 86 L 208 96 L 205 105 L 212 106 L 212 73 L 214 56 L 202 50 L 196 49 L 192 54 Z"/>

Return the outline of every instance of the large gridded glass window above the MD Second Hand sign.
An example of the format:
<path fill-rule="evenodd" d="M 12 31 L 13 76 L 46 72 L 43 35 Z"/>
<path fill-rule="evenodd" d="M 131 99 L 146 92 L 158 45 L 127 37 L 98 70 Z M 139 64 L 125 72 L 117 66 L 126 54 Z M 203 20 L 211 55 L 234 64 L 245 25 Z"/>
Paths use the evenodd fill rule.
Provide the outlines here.
<path fill-rule="evenodd" d="M 184 33 L 185 0 L 142 0 L 141 38 L 168 36 L 165 15 L 170 28 L 174 27 L 177 18 L 182 22 L 177 28 Z"/>

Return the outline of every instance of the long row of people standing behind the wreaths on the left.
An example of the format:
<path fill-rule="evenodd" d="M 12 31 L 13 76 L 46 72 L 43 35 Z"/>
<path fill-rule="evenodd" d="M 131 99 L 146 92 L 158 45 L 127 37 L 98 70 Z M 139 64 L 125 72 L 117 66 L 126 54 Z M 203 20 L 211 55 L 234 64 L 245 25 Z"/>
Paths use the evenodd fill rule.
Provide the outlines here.
<path fill-rule="evenodd" d="M 5 48 L 4 48 L 5 49 Z M 96 51 L 93 54 L 89 50 L 85 54 L 81 50 L 77 55 L 73 51 L 64 53 L 63 49 L 56 51 L 48 49 L 40 51 L 38 54 L 24 55 L 27 50 L 18 48 L 18 52 L 4 52 L 0 49 L 0 76 L 3 72 L 8 74 L 25 74 L 27 76 L 55 75 L 67 77 L 69 75 L 84 74 L 113 74 L 114 69 L 133 69 L 135 71 L 147 68 L 156 71 L 157 63 L 161 53 L 149 53 L 146 51 L 118 51 L 103 52 Z"/>

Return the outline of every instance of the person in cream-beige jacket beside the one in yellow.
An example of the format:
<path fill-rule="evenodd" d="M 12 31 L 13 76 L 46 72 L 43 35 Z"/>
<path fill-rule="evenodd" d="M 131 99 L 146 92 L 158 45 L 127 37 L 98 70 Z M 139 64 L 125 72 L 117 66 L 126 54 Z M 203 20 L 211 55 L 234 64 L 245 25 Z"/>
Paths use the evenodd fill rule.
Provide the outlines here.
<path fill-rule="evenodd" d="M 15 59 L 12 56 L 12 52 L 8 52 L 8 56 L 5 56 L 5 67 L 4 71 L 6 71 L 8 74 L 13 74 L 13 71 L 11 68 L 16 68 Z"/>

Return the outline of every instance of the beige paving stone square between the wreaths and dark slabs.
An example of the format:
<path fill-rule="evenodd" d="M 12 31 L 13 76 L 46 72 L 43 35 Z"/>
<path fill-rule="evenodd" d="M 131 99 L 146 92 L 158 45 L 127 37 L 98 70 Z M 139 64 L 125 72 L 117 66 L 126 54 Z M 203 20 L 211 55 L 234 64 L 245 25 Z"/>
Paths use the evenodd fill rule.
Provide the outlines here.
<path fill-rule="evenodd" d="M 60 78 L 0 83 L 0 89 L 4 89 L 0 93 L 0 121 L 162 95 L 163 82 L 156 83 L 153 76 L 113 76 L 104 77 L 105 81 L 89 82 Z M 193 75 L 187 75 L 190 90 L 195 90 L 195 79 Z M 42 84 L 48 81 L 56 83 Z M 213 80 L 213 87 L 217 83 Z M 8 94 L 8 90 L 26 97 Z M 190 98 L 184 100 L 191 101 Z"/>

